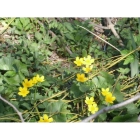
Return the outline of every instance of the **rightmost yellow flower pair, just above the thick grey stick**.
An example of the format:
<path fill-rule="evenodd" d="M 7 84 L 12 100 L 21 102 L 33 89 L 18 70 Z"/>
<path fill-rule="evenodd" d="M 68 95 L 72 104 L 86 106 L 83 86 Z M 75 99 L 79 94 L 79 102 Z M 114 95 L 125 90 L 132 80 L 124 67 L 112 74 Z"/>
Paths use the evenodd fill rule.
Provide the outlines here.
<path fill-rule="evenodd" d="M 109 88 L 102 88 L 102 95 L 105 96 L 105 101 L 107 103 L 113 103 L 113 101 L 116 99 L 116 97 L 114 97 L 112 93 L 109 92 Z"/>

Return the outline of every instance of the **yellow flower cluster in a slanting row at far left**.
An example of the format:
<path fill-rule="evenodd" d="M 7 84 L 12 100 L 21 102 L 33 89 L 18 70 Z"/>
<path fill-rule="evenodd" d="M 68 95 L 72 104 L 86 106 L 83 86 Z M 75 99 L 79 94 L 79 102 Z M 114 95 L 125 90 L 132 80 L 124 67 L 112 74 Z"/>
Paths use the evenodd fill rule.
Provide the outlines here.
<path fill-rule="evenodd" d="M 30 80 L 25 79 L 22 82 L 23 87 L 19 87 L 18 95 L 20 95 L 22 97 L 26 97 L 27 94 L 29 94 L 29 90 L 28 90 L 29 87 L 32 87 L 36 83 L 43 82 L 43 81 L 44 81 L 44 76 L 40 77 L 38 74 L 35 77 L 33 77 L 32 79 L 30 79 Z"/>

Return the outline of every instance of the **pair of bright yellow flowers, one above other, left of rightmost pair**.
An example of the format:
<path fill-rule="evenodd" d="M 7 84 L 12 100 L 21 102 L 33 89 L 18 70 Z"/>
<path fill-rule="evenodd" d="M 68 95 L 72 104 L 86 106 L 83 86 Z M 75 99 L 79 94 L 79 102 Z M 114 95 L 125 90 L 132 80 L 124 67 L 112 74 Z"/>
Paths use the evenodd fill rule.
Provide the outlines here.
<path fill-rule="evenodd" d="M 90 111 L 92 114 L 95 114 L 95 112 L 99 110 L 93 97 L 86 97 L 85 103 L 88 105 L 88 111 Z"/>

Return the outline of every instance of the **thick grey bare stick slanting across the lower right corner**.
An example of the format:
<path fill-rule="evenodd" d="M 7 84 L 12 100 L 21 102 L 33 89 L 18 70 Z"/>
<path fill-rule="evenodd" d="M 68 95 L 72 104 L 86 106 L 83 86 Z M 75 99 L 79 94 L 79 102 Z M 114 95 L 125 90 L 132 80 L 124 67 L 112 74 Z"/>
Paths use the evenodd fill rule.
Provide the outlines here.
<path fill-rule="evenodd" d="M 127 104 L 130 104 L 130 103 L 132 103 L 132 102 L 134 102 L 134 101 L 136 101 L 136 100 L 138 100 L 138 99 L 140 99 L 140 93 L 138 93 L 137 95 L 135 95 L 135 96 L 132 97 L 131 99 L 128 99 L 128 100 L 126 100 L 126 101 L 124 101 L 124 102 L 121 102 L 121 103 L 116 104 L 116 105 L 112 105 L 112 106 L 110 106 L 110 107 L 105 107 L 105 108 L 99 110 L 96 114 L 93 114 L 93 115 L 91 115 L 91 116 L 85 118 L 85 119 L 82 120 L 81 122 L 88 122 L 88 121 L 90 121 L 90 120 L 92 120 L 92 119 L 95 119 L 96 117 L 98 117 L 98 116 L 99 116 L 100 114 L 102 114 L 102 113 L 106 113 L 106 112 L 108 112 L 108 111 L 110 111 L 110 110 L 123 107 L 123 106 L 125 106 L 125 105 L 127 105 Z"/>

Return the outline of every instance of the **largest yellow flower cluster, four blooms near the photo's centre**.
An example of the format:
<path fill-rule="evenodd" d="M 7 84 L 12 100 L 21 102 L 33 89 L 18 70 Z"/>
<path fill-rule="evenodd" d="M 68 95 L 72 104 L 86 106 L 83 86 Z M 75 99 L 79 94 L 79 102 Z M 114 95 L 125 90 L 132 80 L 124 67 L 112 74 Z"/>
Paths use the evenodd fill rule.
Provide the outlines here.
<path fill-rule="evenodd" d="M 87 57 L 84 58 L 79 58 L 76 57 L 76 60 L 74 61 L 74 63 L 80 67 L 80 66 L 84 66 L 82 67 L 82 70 L 85 73 L 89 73 L 91 72 L 93 65 L 91 65 L 94 62 L 94 59 L 91 59 L 91 56 L 88 55 Z M 86 82 L 88 80 L 88 78 L 85 77 L 85 74 L 77 74 L 77 81 L 79 82 Z"/>

